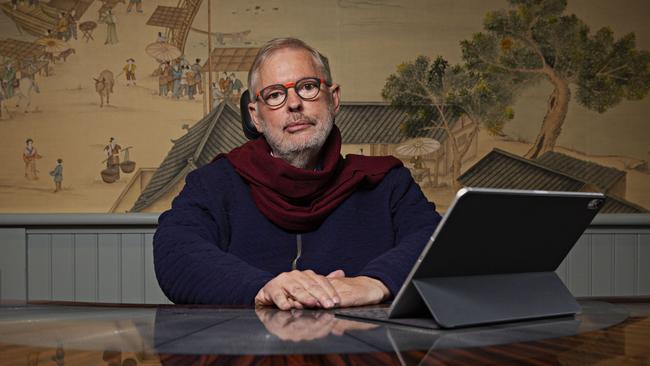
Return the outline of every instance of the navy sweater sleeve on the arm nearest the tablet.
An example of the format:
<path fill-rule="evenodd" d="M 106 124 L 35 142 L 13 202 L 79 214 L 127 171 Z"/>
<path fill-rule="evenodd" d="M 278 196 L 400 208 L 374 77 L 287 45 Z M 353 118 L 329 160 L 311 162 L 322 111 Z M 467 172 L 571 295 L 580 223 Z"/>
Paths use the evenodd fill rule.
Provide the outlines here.
<path fill-rule="evenodd" d="M 358 273 L 380 280 L 395 296 L 441 220 L 406 168 L 393 172 L 390 208 L 395 246 Z M 386 178 L 389 178 L 388 176 Z M 390 178 L 389 178 L 390 179 Z"/>

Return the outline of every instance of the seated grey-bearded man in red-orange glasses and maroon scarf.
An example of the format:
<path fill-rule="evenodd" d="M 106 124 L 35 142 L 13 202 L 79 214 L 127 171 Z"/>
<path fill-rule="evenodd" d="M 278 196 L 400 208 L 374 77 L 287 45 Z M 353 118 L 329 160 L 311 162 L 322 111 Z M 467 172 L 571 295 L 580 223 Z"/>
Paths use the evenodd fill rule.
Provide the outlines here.
<path fill-rule="evenodd" d="M 396 295 L 440 216 L 393 157 L 340 155 L 340 86 L 304 42 L 276 39 L 251 67 L 263 134 L 191 172 L 154 236 L 177 303 L 280 309 Z"/>

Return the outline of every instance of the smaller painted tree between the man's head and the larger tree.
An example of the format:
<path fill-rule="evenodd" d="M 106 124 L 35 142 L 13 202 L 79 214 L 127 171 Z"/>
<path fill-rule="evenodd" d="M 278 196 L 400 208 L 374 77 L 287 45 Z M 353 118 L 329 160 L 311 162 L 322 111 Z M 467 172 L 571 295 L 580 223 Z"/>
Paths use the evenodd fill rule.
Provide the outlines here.
<path fill-rule="evenodd" d="M 420 56 L 397 67 L 382 96 L 405 112 L 402 129 L 408 137 L 424 136 L 427 130 L 443 131 L 452 154 L 452 184 L 458 188 L 455 178 L 479 127 L 494 128 L 512 118 L 509 104 L 516 84 L 508 74 L 483 74 L 461 65 L 450 66 L 442 57 L 431 61 Z M 464 144 L 452 133 L 454 123 L 463 116 L 473 122 Z"/>

